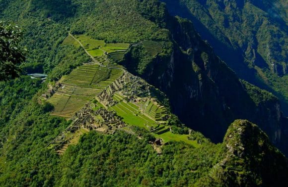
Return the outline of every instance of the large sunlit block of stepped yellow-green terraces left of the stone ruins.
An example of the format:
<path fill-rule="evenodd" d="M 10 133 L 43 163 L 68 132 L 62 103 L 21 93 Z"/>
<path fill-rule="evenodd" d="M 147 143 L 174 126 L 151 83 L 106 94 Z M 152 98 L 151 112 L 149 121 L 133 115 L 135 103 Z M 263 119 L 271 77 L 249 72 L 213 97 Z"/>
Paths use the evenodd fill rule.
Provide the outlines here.
<path fill-rule="evenodd" d="M 102 92 L 123 74 L 123 70 L 84 64 L 60 80 L 62 85 L 51 98 L 51 115 L 71 118 L 93 97 Z"/>

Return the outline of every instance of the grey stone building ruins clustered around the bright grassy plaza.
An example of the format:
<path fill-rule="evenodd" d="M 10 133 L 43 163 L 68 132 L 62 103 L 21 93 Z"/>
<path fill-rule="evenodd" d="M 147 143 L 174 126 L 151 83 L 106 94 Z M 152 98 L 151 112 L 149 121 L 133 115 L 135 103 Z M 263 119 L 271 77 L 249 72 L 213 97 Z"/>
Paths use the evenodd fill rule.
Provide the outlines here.
<path fill-rule="evenodd" d="M 49 88 L 49 92 L 53 94 L 54 90 L 63 90 L 62 85 L 57 83 L 55 87 Z M 49 95 L 51 95 L 49 93 Z M 121 100 L 113 99 L 113 95 L 120 95 Z M 114 111 L 110 111 L 107 108 L 117 104 L 118 102 L 131 102 L 139 106 L 139 111 L 146 114 L 145 109 L 147 103 L 153 102 L 157 107 L 162 108 L 157 104 L 157 101 L 150 98 L 150 85 L 147 84 L 143 79 L 134 76 L 127 71 L 122 76 L 116 79 L 102 92 L 95 95 L 96 100 L 101 102 L 104 107 L 92 109 L 93 104 L 87 103 L 81 110 L 75 113 L 72 117 L 72 124 L 61 133 L 50 145 L 58 153 L 62 153 L 68 147 L 73 139 L 73 133 L 78 132 L 80 129 L 86 131 L 96 131 L 102 134 L 112 135 L 116 130 L 119 130 L 127 125 L 123 122 L 122 118 L 119 117 Z M 47 96 L 48 97 L 48 96 Z M 168 115 L 164 116 L 163 120 L 166 120 Z M 160 124 L 160 123 L 158 123 Z M 153 132 L 157 128 L 147 128 Z M 158 147 L 158 146 L 157 146 Z"/>

